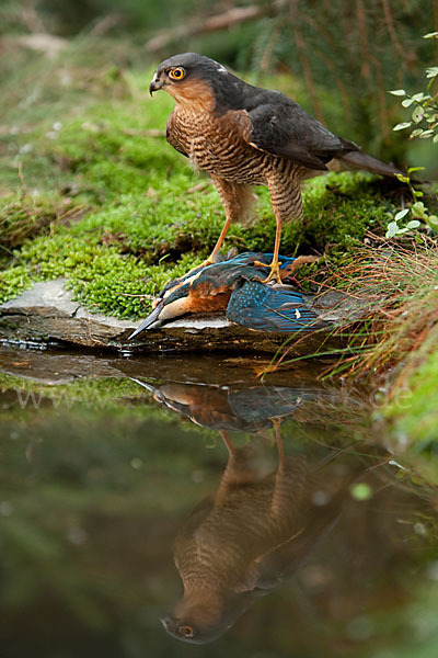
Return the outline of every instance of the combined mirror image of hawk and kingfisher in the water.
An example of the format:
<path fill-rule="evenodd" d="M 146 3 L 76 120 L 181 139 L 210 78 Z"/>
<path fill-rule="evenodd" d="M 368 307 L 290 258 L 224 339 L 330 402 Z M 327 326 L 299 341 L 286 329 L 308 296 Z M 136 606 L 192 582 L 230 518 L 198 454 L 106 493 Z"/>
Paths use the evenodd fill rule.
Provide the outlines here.
<path fill-rule="evenodd" d="M 331 394 L 322 387 L 137 383 L 166 408 L 218 430 L 228 450 L 217 490 L 195 508 L 176 535 L 174 561 L 184 594 L 162 619 L 177 639 L 211 642 L 255 599 L 296 574 L 336 523 L 355 479 L 379 461 L 365 453 L 347 465 L 346 451 L 331 449 L 319 456 L 312 449 L 285 454 L 281 422 L 306 401 L 328 399 Z M 267 427 L 275 438 L 275 465 L 263 431 Z M 237 447 L 231 430 L 258 436 Z"/>

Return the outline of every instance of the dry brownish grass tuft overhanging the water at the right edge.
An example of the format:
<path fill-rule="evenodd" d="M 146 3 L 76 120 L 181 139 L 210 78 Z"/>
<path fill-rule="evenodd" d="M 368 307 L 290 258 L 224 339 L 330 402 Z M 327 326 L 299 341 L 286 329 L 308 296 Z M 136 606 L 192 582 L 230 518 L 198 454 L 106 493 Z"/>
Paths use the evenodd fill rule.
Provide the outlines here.
<path fill-rule="evenodd" d="M 324 282 L 319 282 L 321 293 L 342 291 L 367 306 L 360 321 L 331 333 L 344 338 L 346 348 L 337 352 L 341 356 L 335 364 L 327 365 L 325 376 L 343 374 L 357 382 L 378 379 L 391 371 L 394 378 L 404 381 L 436 344 L 438 243 L 422 240 L 420 245 L 361 247 L 353 262 L 331 269 Z M 286 351 L 268 370 L 293 361 Z"/>

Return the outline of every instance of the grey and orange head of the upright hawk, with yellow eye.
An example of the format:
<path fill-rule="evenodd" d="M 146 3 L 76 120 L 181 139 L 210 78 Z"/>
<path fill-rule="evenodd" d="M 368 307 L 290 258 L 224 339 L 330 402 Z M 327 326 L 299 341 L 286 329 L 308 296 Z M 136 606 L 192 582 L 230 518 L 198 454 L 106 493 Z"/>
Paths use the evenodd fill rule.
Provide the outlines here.
<path fill-rule="evenodd" d="M 241 83 L 224 66 L 198 55 L 183 53 L 164 59 L 158 67 L 149 87 L 152 94 L 164 89 L 177 103 L 203 104 L 211 110 L 230 84 Z"/>

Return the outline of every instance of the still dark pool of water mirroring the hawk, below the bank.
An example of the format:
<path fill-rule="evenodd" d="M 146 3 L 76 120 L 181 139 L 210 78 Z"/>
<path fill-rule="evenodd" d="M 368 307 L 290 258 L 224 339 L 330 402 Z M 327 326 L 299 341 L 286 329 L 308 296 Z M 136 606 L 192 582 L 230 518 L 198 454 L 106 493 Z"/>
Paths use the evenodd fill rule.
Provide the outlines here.
<path fill-rule="evenodd" d="M 438 655 L 437 492 L 325 366 L 0 349 L 0 655 Z"/>

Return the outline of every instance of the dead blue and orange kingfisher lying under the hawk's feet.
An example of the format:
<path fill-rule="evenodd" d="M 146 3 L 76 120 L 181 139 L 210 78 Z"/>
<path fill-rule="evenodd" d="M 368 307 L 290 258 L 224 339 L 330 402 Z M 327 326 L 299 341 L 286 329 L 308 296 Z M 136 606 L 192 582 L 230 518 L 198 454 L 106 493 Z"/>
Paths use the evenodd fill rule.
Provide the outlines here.
<path fill-rule="evenodd" d="M 280 256 L 279 272 L 286 280 L 304 262 L 318 257 Z M 272 253 L 244 252 L 230 260 L 199 265 L 169 283 L 153 304 L 152 313 L 130 334 L 160 327 L 188 314 L 224 311 L 238 325 L 258 331 L 295 332 L 320 328 L 318 315 L 309 308 L 301 293 L 274 287 L 262 281 L 269 268 Z"/>

